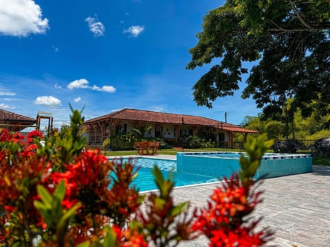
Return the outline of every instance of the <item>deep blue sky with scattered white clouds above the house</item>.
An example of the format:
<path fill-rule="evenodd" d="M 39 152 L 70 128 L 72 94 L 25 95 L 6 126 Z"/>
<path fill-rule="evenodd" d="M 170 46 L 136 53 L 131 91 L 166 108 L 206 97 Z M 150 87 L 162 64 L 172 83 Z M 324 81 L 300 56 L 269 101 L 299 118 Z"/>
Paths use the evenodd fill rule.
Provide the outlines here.
<path fill-rule="evenodd" d="M 197 106 L 186 70 L 203 16 L 223 1 L 0 0 L 0 108 L 69 120 L 122 108 L 199 115 L 241 124 L 259 109 L 241 92 Z"/>

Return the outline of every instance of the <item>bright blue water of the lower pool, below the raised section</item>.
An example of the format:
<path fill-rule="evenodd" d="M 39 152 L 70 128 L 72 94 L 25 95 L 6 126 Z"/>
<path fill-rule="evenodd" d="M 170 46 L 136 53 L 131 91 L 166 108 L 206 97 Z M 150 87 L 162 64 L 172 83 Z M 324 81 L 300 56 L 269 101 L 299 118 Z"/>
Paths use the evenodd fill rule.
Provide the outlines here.
<path fill-rule="evenodd" d="M 123 162 L 127 161 L 127 158 L 123 159 Z M 219 178 L 214 176 L 189 174 L 186 172 L 177 173 L 177 162 L 172 160 L 158 158 L 135 158 L 132 161 L 136 167 L 140 167 L 137 172 L 137 176 L 132 183 L 132 185 L 135 185 L 136 188 L 140 191 L 157 189 L 155 178 L 152 172 L 154 165 L 157 165 L 157 167 L 162 170 L 164 178 L 168 178 L 168 175 L 172 171 L 171 178 L 174 180 L 175 187 L 219 181 Z"/>

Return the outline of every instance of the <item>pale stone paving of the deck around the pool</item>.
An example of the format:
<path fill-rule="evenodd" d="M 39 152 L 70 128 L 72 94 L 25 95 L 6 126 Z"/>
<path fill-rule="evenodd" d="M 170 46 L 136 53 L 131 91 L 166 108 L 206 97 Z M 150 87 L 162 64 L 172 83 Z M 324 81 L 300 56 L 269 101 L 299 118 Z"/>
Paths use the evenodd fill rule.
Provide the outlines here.
<path fill-rule="evenodd" d="M 173 155 L 151 156 L 171 158 Z M 190 201 L 192 207 L 206 206 L 206 200 L 219 183 L 178 187 L 173 191 L 175 202 Z M 266 246 L 325 247 L 330 246 L 330 167 L 315 165 L 313 172 L 263 180 L 263 202 L 254 216 L 263 216 L 259 227 L 275 231 Z M 208 246 L 200 237 L 179 246 Z"/>

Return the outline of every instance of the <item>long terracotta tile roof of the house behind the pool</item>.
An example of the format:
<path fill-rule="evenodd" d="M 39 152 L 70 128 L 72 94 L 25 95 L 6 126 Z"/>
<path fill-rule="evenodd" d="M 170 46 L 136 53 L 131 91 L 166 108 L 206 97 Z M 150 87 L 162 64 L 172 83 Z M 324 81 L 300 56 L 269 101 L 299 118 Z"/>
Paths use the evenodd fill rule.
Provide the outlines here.
<path fill-rule="evenodd" d="M 214 128 L 223 128 L 224 130 L 230 130 L 234 132 L 250 132 L 256 133 L 254 130 L 246 130 L 236 126 L 234 124 L 228 124 L 221 121 L 209 119 L 206 117 L 197 117 L 192 115 L 182 115 L 173 113 L 159 113 L 150 110 L 135 110 L 124 108 L 118 110 L 114 113 L 103 115 L 101 117 L 96 117 L 94 119 L 89 119 L 84 122 L 84 124 L 91 124 L 97 121 L 102 121 L 105 119 L 121 119 L 129 121 L 146 121 L 151 123 L 159 124 L 182 124 L 182 119 L 184 119 L 184 124 L 190 126 L 212 126 Z"/>

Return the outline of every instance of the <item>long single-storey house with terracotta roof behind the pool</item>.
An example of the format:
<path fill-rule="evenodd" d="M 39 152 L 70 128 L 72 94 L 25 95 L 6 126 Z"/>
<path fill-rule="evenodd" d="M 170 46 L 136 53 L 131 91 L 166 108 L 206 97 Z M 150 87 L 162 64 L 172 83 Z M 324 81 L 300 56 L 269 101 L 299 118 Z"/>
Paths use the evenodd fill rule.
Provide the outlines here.
<path fill-rule="evenodd" d="M 105 139 L 116 134 L 142 128 L 146 130 L 144 137 L 158 137 L 168 143 L 178 143 L 182 137 L 199 136 L 218 141 L 226 147 L 232 147 L 236 133 L 244 134 L 245 137 L 257 133 L 206 117 L 130 108 L 84 121 L 83 128 L 86 130 L 89 145 L 102 145 Z"/>

